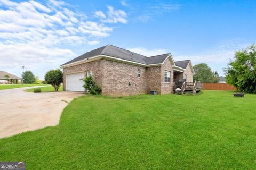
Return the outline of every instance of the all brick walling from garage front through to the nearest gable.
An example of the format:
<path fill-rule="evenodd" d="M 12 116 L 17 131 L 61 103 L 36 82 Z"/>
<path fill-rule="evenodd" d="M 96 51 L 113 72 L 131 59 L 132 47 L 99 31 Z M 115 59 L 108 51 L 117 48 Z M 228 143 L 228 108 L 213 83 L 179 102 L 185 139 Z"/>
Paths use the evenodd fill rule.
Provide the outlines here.
<path fill-rule="evenodd" d="M 138 69 L 141 70 L 141 78 L 138 77 Z M 66 74 L 84 72 L 86 76 L 87 70 L 92 70 L 93 79 L 102 87 L 102 95 L 137 95 L 150 90 L 156 90 L 157 94 L 172 92 L 173 69 L 169 59 L 162 66 L 147 68 L 106 59 L 63 68 L 63 90 L 66 89 Z M 164 82 L 165 70 L 171 72 L 170 83 Z"/>

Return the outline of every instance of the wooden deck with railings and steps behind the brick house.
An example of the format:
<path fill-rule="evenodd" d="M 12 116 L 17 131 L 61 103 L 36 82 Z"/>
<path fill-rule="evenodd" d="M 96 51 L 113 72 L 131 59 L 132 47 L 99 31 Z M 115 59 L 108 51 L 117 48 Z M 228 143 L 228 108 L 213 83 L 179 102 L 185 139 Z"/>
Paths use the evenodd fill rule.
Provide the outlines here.
<path fill-rule="evenodd" d="M 181 94 L 197 94 L 201 90 L 204 91 L 203 83 L 201 82 L 173 82 L 173 91 L 180 88 Z"/>

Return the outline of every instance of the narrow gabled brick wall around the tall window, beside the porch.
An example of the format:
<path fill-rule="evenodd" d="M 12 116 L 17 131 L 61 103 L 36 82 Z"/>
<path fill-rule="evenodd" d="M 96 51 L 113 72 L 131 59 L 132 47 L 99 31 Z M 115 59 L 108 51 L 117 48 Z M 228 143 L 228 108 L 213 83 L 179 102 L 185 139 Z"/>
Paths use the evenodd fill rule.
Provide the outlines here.
<path fill-rule="evenodd" d="M 164 82 L 164 71 L 170 71 L 170 83 Z M 161 67 L 161 94 L 170 94 L 173 88 L 173 69 L 169 58 L 164 62 Z"/>

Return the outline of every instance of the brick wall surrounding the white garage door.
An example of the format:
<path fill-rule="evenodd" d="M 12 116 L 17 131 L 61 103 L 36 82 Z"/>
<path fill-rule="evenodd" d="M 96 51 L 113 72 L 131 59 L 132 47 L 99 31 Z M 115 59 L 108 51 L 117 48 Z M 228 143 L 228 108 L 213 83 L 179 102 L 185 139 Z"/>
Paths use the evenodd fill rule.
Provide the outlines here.
<path fill-rule="evenodd" d="M 92 78 L 95 80 L 97 85 L 102 87 L 102 71 L 103 71 L 103 60 L 97 60 L 93 62 L 78 64 L 75 66 L 63 68 L 63 90 L 66 90 L 66 74 L 84 72 L 86 77 L 87 70 L 92 71 Z"/>

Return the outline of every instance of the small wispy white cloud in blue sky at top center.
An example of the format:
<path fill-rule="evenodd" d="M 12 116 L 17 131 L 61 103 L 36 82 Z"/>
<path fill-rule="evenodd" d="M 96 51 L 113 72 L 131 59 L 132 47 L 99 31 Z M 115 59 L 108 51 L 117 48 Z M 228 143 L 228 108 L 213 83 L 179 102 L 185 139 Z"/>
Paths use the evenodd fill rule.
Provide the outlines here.
<path fill-rule="evenodd" d="M 127 14 L 123 10 L 115 10 L 113 6 L 108 6 L 107 14 L 96 11 L 95 16 L 103 23 L 127 23 Z"/>

